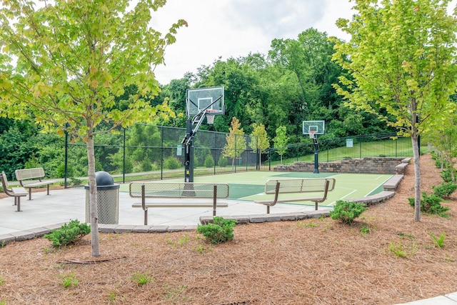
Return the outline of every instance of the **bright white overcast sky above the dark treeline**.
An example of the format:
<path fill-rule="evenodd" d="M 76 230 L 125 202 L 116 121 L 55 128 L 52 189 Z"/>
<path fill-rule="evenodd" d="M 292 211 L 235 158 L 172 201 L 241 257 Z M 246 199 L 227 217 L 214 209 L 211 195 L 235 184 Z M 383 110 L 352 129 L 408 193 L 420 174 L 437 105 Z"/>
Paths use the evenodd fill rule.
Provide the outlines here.
<path fill-rule="evenodd" d="M 457 0 L 452 2 L 456 6 Z M 153 15 L 154 29 L 165 33 L 178 19 L 189 26 L 179 29 L 176 43 L 166 49 L 166 66 L 156 68 L 156 79 L 169 84 L 219 56 L 267 54 L 273 39 L 296 39 L 310 27 L 347 41 L 335 21 L 351 19 L 353 5 L 348 0 L 167 0 Z"/>

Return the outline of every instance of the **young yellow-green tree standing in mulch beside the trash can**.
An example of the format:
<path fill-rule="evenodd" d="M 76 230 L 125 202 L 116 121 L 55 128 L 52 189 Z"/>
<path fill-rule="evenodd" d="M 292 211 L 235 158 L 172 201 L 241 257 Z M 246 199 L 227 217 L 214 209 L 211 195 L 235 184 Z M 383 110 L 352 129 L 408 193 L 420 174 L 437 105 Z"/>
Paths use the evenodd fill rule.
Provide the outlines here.
<path fill-rule="evenodd" d="M 166 1 L 4 1 L 0 9 L 1 116 L 31 118 L 44 131 L 84 139 L 90 186 L 92 256 L 99 256 L 94 135 L 167 115 L 151 106 L 159 93 L 154 67 L 164 62 L 179 20 L 169 32 L 151 29 L 151 11 Z M 116 96 L 134 85 L 125 110 Z M 164 111 L 164 112 L 161 112 Z M 110 126 L 97 129 L 101 122 Z"/>

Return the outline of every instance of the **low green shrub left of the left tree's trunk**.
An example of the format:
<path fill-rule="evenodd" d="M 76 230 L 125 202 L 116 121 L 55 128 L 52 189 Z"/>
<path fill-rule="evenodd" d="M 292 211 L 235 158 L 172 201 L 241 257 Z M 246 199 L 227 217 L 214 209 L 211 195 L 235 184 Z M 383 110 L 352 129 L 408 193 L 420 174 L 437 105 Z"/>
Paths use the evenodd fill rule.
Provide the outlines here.
<path fill-rule="evenodd" d="M 64 224 L 60 229 L 51 230 L 49 234 L 44 235 L 45 239 L 52 241 L 52 246 L 60 247 L 73 243 L 76 239 L 89 234 L 91 226 L 88 224 L 80 224 L 77 219 L 71 220 L 68 224 Z"/>

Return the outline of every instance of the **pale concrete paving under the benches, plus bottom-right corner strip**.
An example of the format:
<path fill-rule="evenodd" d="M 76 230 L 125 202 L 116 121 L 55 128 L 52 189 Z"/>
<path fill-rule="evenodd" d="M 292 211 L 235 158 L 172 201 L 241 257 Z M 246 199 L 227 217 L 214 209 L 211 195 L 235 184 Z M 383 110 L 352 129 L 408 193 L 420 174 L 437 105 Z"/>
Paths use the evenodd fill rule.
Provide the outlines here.
<path fill-rule="evenodd" d="M 166 232 L 194 230 L 197 224 L 213 218 L 209 208 L 149 209 L 148 226 L 144 226 L 144 212 L 134 209 L 128 193 L 119 193 L 119 224 L 99 224 L 101 232 Z M 266 207 L 251 201 L 229 200 L 229 206 L 217 209 L 218 216 L 236 219 L 239 222 L 264 222 L 281 220 L 299 220 L 311 217 L 328 216 L 330 209 L 297 204 L 276 204 L 271 207 L 271 214 Z M 21 212 L 16 211 L 14 199 L 0 199 L 0 244 L 10 241 L 23 241 L 48 234 L 51 229 L 58 229 L 72 219 L 84 222 L 86 219 L 86 190 L 64 189 L 32 194 L 32 200 L 21 200 Z M 457 292 L 404 303 L 409 305 L 457 305 Z M 398 304 L 401 305 L 401 304 Z"/>

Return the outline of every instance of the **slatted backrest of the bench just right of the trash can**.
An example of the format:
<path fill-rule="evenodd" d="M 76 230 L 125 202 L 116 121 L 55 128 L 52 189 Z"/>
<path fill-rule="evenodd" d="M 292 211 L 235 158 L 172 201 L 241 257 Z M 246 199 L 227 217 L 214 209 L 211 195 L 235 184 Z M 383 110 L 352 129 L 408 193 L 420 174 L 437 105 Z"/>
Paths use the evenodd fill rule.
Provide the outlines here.
<path fill-rule="evenodd" d="M 141 186 L 144 185 L 146 197 L 170 198 L 214 198 L 214 186 L 217 186 L 216 198 L 229 197 L 229 184 L 209 184 L 192 182 L 131 182 L 129 194 L 141 198 Z"/>

